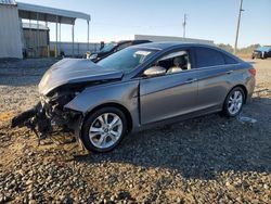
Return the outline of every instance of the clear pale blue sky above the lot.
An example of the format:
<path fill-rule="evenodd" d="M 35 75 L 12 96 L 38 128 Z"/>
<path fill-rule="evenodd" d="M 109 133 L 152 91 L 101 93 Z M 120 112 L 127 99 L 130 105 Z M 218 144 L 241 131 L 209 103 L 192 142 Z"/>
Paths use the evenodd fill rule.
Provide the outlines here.
<path fill-rule="evenodd" d="M 136 34 L 183 35 L 234 44 L 240 0 L 18 0 L 91 15 L 90 41 L 131 39 Z M 244 0 L 238 47 L 271 44 L 271 0 Z M 35 23 L 35 22 L 33 22 Z M 55 24 L 50 23 L 55 40 Z M 72 26 L 62 25 L 62 41 L 72 41 Z M 87 41 L 87 23 L 77 20 L 75 41 Z"/>

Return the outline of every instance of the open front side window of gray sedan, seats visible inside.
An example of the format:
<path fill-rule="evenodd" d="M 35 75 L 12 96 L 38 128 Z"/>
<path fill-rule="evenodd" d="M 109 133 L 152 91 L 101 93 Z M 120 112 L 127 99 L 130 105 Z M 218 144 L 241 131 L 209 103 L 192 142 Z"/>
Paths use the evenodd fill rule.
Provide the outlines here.
<path fill-rule="evenodd" d="M 166 74 L 175 74 L 182 71 L 189 71 L 191 69 L 190 55 L 185 50 L 171 52 L 160 58 L 158 61 L 152 64 L 152 66 L 164 67 L 167 71 Z"/>

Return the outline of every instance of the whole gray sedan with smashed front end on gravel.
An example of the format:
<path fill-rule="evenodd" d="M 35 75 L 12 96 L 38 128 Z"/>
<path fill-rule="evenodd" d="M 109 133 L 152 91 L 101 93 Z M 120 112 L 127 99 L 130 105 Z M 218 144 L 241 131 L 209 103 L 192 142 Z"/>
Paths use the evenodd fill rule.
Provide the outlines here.
<path fill-rule="evenodd" d="M 144 43 L 96 64 L 64 59 L 43 75 L 40 102 L 12 126 L 27 126 L 42 138 L 62 127 L 89 151 L 107 152 L 144 128 L 216 112 L 238 115 L 251 98 L 255 75 L 251 64 L 198 43 Z"/>

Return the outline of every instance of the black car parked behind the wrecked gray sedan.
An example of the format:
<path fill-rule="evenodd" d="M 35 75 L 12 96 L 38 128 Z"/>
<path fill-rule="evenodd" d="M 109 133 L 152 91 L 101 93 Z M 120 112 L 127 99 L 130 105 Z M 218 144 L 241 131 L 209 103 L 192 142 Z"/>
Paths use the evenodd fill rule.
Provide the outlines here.
<path fill-rule="evenodd" d="M 152 41 L 150 40 L 124 40 L 119 42 L 111 42 L 111 43 L 105 44 L 99 52 L 92 53 L 90 55 L 90 60 L 93 62 L 98 62 L 99 60 L 104 59 L 113 54 L 114 52 L 122 50 L 127 47 L 141 44 L 141 43 L 147 43 L 147 42 L 152 42 Z"/>

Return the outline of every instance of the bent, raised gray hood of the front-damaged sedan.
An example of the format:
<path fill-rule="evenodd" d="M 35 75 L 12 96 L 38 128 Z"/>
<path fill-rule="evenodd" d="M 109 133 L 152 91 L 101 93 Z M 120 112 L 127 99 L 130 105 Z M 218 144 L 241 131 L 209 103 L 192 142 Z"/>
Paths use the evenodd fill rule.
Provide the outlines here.
<path fill-rule="evenodd" d="M 67 84 L 121 79 L 124 73 L 103 68 L 86 59 L 64 59 L 52 65 L 39 82 L 39 92 L 48 94 Z"/>

